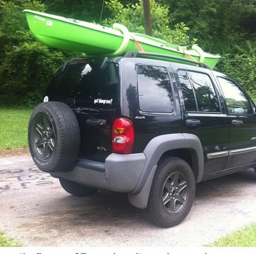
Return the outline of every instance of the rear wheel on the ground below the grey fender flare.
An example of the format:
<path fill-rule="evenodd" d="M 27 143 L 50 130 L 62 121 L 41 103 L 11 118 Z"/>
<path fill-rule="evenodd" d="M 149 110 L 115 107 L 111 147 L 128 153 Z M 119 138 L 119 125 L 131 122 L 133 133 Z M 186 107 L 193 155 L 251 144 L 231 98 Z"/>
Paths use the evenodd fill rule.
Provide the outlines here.
<path fill-rule="evenodd" d="M 162 160 L 152 182 L 145 217 L 155 225 L 168 228 L 181 223 L 195 198 L 195 177 L 184 160 Z"/>

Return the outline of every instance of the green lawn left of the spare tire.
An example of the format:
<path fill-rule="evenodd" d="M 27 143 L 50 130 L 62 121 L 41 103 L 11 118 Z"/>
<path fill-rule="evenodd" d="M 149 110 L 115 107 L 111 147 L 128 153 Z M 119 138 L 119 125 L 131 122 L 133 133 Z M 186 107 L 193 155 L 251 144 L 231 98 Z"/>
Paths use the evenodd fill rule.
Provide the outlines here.
<path fill-rule="evenodd" d="M 32 108 L 0 108 L 0 150 L 27 147 L 27 128 Z"/>

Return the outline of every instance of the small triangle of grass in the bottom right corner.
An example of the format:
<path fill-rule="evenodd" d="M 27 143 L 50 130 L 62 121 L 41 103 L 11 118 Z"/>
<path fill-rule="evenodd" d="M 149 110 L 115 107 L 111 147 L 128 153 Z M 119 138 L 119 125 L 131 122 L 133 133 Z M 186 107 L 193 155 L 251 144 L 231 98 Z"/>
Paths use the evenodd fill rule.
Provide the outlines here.
<path fill-rule="evenodd" d="M 256 223 L 214 242 L 212 247 L 256 247 Z"/>

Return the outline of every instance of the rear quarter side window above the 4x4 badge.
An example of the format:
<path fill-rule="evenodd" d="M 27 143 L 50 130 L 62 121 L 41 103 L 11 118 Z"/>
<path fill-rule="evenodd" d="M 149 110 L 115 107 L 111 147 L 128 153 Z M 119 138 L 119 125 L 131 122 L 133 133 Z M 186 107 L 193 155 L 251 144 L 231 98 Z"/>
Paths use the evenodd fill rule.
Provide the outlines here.
<path fill-rule="evenodd" d="M 139 65 L 137 67 L 137 78 L 141 111 L 173 112 L 172 86 L 166 68 Z"/>

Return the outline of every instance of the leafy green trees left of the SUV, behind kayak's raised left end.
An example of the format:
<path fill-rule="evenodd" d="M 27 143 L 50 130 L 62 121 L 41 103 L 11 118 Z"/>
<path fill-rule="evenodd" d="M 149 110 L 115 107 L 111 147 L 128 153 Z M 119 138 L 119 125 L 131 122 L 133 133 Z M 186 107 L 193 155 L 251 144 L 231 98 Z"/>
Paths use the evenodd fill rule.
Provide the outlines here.
<path fill-rule="evenodd" d="M 42 100 L 52 74 L 73 53 L 49 49 L 38 43 L 26 22 L 23 9 L 44 11 L 39 1 L 0 2 L 0 91 L 20 97 L 20 103 Z"/>

